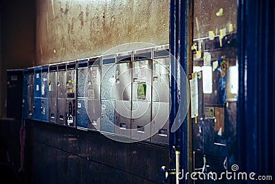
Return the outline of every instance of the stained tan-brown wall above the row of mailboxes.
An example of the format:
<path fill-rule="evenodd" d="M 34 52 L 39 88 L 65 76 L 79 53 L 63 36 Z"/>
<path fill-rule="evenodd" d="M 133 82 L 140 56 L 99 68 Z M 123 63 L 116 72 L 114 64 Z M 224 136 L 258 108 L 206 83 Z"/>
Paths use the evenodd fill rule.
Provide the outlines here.
<path fill-rule="evenodd" d="M 37 0 L 36 6 L 36 65 L 99 55 L 123 43 L 168 43 L 168 0 Z"/>

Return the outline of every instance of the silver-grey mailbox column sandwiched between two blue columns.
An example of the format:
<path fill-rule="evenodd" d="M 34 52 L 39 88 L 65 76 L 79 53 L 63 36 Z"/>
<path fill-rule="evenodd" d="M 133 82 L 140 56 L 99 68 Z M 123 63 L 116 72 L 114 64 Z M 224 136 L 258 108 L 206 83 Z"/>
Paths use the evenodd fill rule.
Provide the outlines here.
<path fill-rule="evenodd" d="M 98 131 L 100 130 L 100 62 L 101 57 L 89 59 L 89 72 L 88 77 L 85 80 L 85 92 L 87 92 L 85 96 L 88 98 L 88 129 Z"/>

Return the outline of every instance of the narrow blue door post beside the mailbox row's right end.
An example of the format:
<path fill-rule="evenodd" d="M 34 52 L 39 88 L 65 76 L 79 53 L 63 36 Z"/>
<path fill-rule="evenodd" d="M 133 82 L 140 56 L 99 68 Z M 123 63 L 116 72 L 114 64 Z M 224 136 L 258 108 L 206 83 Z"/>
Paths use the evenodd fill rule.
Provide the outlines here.
<path fill-rule="evenodd" d="M 170 53 L 177 59 L 171 58 L 170 60 L 170 71 L 174 76 L 180 75 L 179 67 L 184 68 L 184 72 L 187 69 L 187 1 L 171 0 L 170 1 Z M 185 76 L 185 74 L 184 74 Z M 186 98 L 186 80 L 180 79 L 175 81 L 173 76 L 170 79 L 170 94 L 171 94 L 171 112 L 170 112 L 170 125 L 171 129 L 172 123 L 177 115 L 179 102 Z M 179 121 L 184 121 L 181 127 L 175 132 L 170 132 L 169 148 L 170 148 L 170 169 L 175 169 L 175 152 L 173 151 L 173 146 L 179 146 L 179 156 L 180 156 L 180 168 L 181 170 L 187 170 L 187 119 L 185 117 L 179 117 Z M 186 181 L 179 181 L 180 183 L 185 183 Z M 175 177 L 170 177 L 170 183 L 175 183 Z"/>

